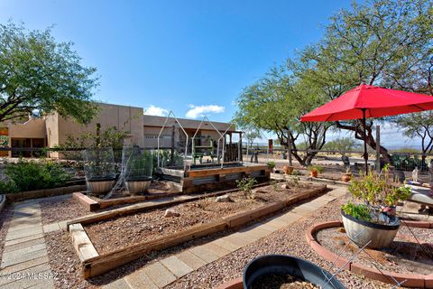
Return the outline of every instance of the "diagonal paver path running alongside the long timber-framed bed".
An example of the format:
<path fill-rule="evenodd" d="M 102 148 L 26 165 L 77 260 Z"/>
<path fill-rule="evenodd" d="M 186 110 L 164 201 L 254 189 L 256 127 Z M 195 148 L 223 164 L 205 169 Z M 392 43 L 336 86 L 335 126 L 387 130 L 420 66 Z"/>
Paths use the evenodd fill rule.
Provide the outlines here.
<path fill-rule="evenodd" d="M 241 247 L 245 247 L 260 238 L 271 235 L 272 232 L 278 229 L 289 226 L 298 219 L 308 216 L 313 211 L 318 210 L 318 208 L 325 206 L 328 202 L 344 196 L 347 192 L 346 187 L 330 185 L 327 187 L 333 190 L 283 214 L 254 224 L 251 227 L 243 228 L 224 238 L 217 238 L 204 245 L 190 247 L 177 254 L 152 262 L 133 274 L 126 275 L 113 283 L 106 284 L 103 288 L 162 288 L 176 281 L 178 278 L 197 270 L 201 266 L 206 266 Z"/>

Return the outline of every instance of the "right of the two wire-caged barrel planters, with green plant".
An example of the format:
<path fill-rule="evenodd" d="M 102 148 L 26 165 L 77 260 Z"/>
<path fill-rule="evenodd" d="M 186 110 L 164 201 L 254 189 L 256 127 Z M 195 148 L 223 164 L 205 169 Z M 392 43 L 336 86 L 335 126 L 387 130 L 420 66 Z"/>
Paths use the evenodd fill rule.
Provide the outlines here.
<path fill-rule="evenodd" d="M 124 170 L 124 183 L 130 194 L 136 195 L 147 191 L 152 182 L 152 152 L 142 152 L 140 148 L 134 148 L 124 163 Z"/>

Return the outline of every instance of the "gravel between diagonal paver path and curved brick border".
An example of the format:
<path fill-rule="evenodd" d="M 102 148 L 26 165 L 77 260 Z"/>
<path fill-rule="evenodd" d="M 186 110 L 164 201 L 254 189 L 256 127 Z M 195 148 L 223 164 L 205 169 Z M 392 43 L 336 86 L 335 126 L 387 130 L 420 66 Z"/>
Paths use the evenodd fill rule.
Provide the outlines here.
<path fill-rule="evenodd" d="M 345 199 L 344 197 L 330 202 L 326 207 L 317 210 L 312 217 L 299 219 L 287 228 L 276 231 L 266 238 L 218 259 L 216 262 L 203 266 L 170 284 L 167 288 L 215 288 L 219 284 L 241 277 L 244 267 L 249 261 L 256 256 L 266 254 L 299 256 L 329 269 L 331 264 L 318 256 L 307 244 L 305 230 L 319 222 L 339 219 L 339 208 Z M 347 288 L 392 288 L 390 284 L 369 280 L 364 276 L 347 271 L 341 272 L 338 279 Z"/>

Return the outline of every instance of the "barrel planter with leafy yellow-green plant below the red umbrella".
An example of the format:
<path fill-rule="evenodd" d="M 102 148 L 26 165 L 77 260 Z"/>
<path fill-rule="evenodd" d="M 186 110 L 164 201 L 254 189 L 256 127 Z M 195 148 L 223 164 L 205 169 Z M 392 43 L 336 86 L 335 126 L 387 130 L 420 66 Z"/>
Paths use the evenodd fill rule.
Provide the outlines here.
<path fill-rule="evenodd" d="M 392 211 L 411 191 L 391 182 L 387 171 L 385 165 L 381 173 L 369 172 L 352 180 L 349 191 L 357 202 L 349 200 L 341 207 L 347 237 L 360 247 L 389 247 L 400 228 L 400 219 Z"/>

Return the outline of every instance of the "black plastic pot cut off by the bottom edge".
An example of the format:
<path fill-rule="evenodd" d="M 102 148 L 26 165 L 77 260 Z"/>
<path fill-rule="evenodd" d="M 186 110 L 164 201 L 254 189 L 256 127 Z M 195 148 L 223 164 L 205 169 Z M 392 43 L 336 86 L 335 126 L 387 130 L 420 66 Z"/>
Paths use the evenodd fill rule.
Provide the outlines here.
<path fill-rule="evenodd" d="M 321 267 L 296 256 L 265 255 L 251 261 L 244 270 L 244 289 L 252 288 L 257 278 L 263 275 L 291 275 L 302 281 L 321 286 L 322 289 L 344 289 L 332 274 Z M 330 281 L 327 283 L 327 281 Z"/>

